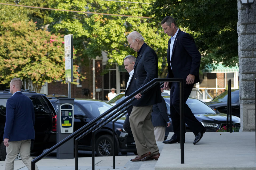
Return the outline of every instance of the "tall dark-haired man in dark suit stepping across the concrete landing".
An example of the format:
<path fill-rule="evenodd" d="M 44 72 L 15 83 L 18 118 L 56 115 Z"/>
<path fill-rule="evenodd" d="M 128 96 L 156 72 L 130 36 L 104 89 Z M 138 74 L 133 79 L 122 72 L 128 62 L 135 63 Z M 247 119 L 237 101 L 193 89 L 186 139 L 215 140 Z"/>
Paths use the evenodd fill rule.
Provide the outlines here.
<path fill-rule="evenodd" d="M 177 28 L 175 20 L 171 16 L 166 16 L 162 22 L 164 32 L 171 36 L 168 42 L 167 78 L 183 78 L 184 82 L 184 114 L 185 122 L 190 130 L 195 134 L 195 145 L 203 137 L 206 129 L 195 118 L 188 105 L 185 103 L 189 97 L 195 83 L 199 82 L 199 66 L 201 54 L 199 53 L 194 39 L 188 34 Z M 170 111 L 173 124 L 174 135 L 171 139 L 163 143 L 180 142 L 180 124 L 179 124 L 179 85 L 177 82 L 165 82 L 165 90 L 170 89 Z"/>

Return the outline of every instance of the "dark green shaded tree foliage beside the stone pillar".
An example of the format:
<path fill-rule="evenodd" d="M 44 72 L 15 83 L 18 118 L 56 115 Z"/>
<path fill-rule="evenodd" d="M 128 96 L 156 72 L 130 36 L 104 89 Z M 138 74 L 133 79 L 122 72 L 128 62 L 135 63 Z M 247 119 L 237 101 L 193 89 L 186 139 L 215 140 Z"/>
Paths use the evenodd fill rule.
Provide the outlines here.
<path fill-rule="evenodd" d="M 156 0 L 152 6 L 155 21 L 172 16 L 179 28 L 195 38 L 202 67 L 238 63 L 237 0 Z"/>

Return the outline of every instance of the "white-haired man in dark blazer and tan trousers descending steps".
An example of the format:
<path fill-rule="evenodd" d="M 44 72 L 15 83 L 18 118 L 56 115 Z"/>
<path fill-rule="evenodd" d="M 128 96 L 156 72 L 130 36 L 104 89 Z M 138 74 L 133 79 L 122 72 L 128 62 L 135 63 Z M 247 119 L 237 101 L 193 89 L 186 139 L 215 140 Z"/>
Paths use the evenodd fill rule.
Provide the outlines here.
<path fill-rule="evenodd" d="M 144 43 L 142 35 L 136 31 L 127 36 L 127 41 L 138 53 L 134 65 L 133 92 L 154 78 L 158 78 L 158 58 L 152 48 Z M 132 102 L 129 120 L 138 156 L 131 161 L 158 160 L 160 154 L 155 142 L 154 127 L 151 122 L 153 104 L 161 102 L 159 83 L 144 94 L 137 94 Z"/>

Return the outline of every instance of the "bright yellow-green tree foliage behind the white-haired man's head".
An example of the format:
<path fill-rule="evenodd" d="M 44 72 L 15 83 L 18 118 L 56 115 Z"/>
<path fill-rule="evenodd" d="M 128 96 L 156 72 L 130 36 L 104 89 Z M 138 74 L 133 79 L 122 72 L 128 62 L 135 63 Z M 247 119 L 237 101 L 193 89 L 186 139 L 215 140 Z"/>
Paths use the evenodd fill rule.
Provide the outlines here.
<path fill-rule="evenodd" d="M 141 2 L 135 0 L 134 2 Z M 150 3 L 150 0 L 143 2 Z M 148 16 L 150 4 L 110 2 L 101 0 L 50 0 L 50 8 L 65 10 L 98 12 L 107 14 Z M 129 48 L 127 35 L 138 31 L 158 55 L 159 73 L 162 62 L 166 60 L 168 38 L 159 29 L 159 23 L 145 18 L 85 14 L 66 11 L 51 11 L 48 18 L 49 28 L 53 32 L 74 35 L 74 46 L 78 50 L 78 59 L 85 63 L 91 58 L 108 54 L 109 64 L 123 65 L 123 58 L 137 53 Z M 165 37 L 165 38 L 163 38 Z"/>

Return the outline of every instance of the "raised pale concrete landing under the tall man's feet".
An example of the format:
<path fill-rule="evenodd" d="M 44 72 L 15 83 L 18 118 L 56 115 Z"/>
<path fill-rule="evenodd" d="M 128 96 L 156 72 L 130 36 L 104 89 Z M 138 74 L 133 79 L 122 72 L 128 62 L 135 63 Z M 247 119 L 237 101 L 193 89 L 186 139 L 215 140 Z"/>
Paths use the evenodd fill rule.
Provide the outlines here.
<path fill-rule="evenodd" d="M 206 132 L 197 145 L 194 138 L 192 132 L 186 133 L 184 164 L 180 144 L 165 144 L 155 170 L 256 169 L 255 132 Z"/>

